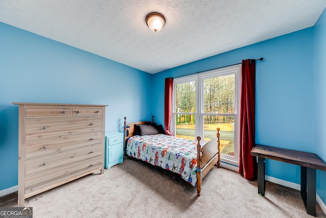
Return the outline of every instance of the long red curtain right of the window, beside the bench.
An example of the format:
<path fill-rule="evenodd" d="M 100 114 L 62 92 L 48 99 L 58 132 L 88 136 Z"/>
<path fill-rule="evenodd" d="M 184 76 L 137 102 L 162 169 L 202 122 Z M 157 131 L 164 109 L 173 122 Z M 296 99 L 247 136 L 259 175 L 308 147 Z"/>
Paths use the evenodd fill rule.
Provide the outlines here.
<path fill-rule="evenodd" d="M 255 146 L 255 81 L 256 60 L 242 60 L 239 173 L 248 180 L 257 178 L 257 163 L 250 154 Z"/>

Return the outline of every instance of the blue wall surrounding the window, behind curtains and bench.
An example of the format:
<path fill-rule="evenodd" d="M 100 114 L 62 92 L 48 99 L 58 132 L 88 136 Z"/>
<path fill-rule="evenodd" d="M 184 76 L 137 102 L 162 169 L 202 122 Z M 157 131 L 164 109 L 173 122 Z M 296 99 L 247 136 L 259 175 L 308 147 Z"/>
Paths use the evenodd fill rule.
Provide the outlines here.
<path fill-rule="evenodd" d="M 313 31 L 307 28 L 153 75 L 156 122 L 164 123 L 164 78 L 263 57 L 256 63 L 256 143 L 314 152 Z M 266 175 L 300 184 L 300 167 L 293 164 L 268 159 Z"/>

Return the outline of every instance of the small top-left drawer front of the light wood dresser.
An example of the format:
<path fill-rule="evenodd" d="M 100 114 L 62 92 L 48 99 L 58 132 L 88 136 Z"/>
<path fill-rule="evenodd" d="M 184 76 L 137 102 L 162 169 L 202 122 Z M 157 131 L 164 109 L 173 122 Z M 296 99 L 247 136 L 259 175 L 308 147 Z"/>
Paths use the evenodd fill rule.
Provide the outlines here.
<path fill-rule="evenodd" d="M 26 117 L 31 116 L 71 116 L 70 108 L 26 108 Z"/>

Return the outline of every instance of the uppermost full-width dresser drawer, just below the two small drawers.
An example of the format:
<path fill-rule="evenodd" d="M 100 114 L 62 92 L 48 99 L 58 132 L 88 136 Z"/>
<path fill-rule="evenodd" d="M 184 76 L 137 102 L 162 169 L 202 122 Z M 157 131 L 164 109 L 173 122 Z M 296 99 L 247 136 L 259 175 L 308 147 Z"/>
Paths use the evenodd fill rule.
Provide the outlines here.
<path fill-rule="evenodd" d="M 25 140 L 102 130 L 102 116 L 30 118 L 25 120 Z"/>

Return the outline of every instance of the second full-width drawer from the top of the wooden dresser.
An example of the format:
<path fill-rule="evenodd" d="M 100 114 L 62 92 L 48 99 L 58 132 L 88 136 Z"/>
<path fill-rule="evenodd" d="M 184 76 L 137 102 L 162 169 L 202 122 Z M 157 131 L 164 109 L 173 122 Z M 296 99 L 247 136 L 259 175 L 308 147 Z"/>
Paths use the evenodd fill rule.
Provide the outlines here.
<path fill-rule="evenodd" d="M 53 138 L 28 141 L 25 143 L 25 157 L 31 158 L 62 152 L 68 149 L 89 146 L 102 142 L 102 132 L 57 136 Z"/>

